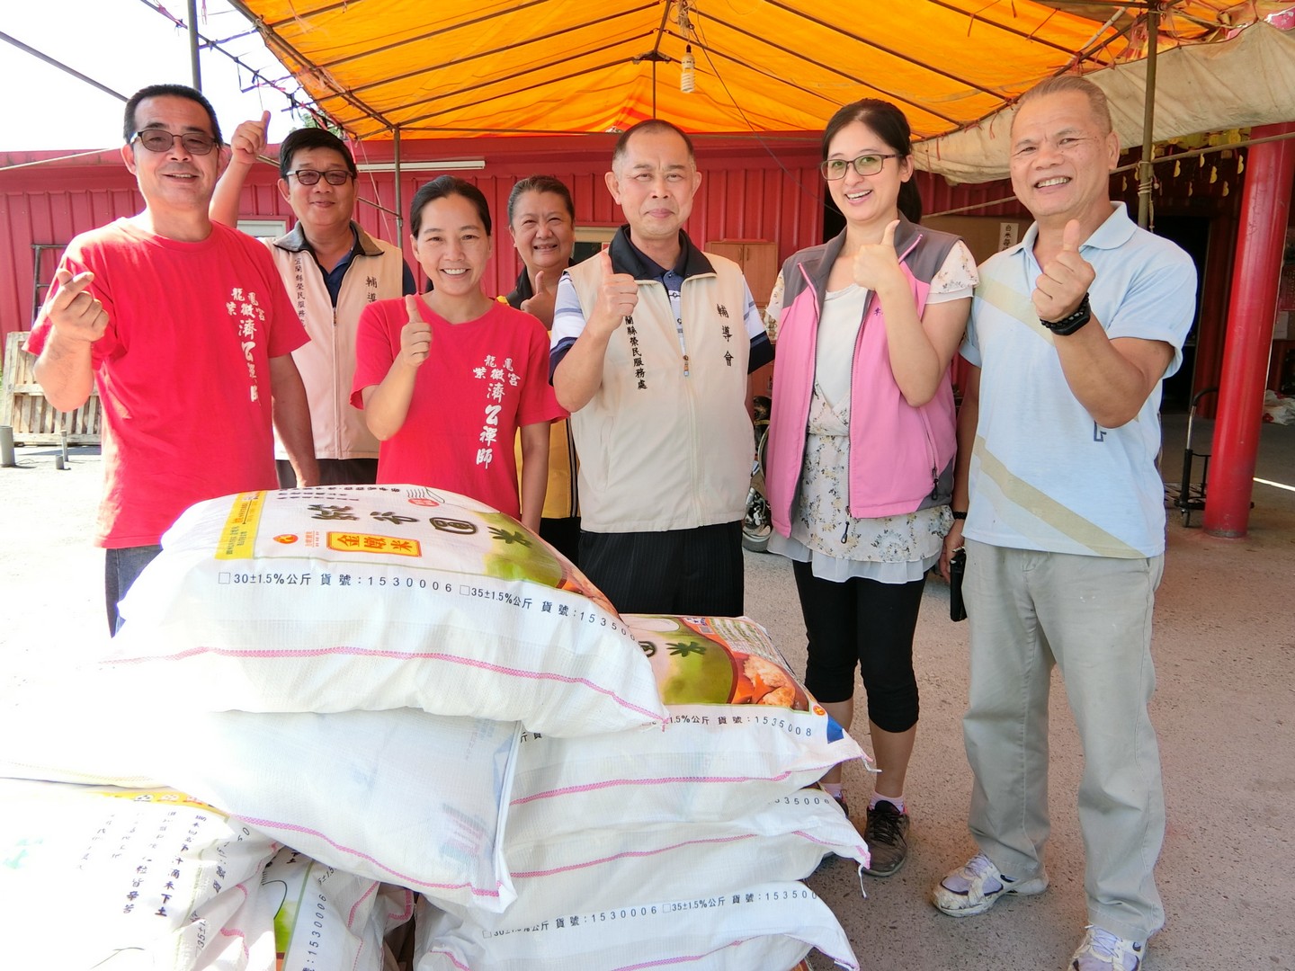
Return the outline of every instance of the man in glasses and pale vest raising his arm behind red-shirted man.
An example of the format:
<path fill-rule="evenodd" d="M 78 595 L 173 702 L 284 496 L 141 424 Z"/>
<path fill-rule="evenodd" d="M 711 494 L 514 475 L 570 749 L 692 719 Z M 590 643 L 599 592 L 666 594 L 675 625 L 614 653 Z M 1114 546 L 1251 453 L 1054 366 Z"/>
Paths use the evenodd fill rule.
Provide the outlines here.
<path fill-rule="evenodd" d="M 211 218 L 238 224 L 238 195 L 265 144 L 269 113 L 243 122 L 231 139 L 229 166 L 211 199 Z M 359 172 L 346 142 L 324 128 L 298 128 L 278 149 L 278 190 L 297 225 L 267 240 L 287 295 L 311 342 L 293 352 L 306 382 L 320 484 L 372 483 L 378 443 L 351 407 L 355 329 L 374 300 L 416 291 L 400 249 L 374 240 L 355 221 Z M 297 486 L 282 443 L 275 441 L 281 488 Z"/>

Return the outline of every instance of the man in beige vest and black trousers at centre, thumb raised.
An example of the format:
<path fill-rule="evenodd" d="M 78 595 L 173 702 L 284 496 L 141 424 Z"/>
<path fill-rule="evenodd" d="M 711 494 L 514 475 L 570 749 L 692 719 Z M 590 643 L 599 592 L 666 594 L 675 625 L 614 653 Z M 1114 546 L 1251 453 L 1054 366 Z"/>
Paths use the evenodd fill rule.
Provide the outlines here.
<path fill-rule="evenodd" d="M 741 268 L 684 232 L 692 140 L 640 122 L 607 190 L 606 251 L 562 274 L 550 368 L 580 456 L 580 568 L 631 614 L 742 614 L 747 374 L 773 357 Z"/>

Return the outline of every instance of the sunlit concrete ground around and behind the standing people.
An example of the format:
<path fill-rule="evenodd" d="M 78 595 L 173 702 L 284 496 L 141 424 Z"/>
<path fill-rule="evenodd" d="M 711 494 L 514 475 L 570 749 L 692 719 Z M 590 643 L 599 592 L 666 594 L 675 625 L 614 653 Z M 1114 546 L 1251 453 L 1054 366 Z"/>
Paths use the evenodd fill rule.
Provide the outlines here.
<path fill-rule="evenodd" d="M 1166 418 L 1171 479 L 1181 469 L 1184 425 L 1181 416 Z M 1210 431 L 1198 425 L 1198 449 Z M 105 645 L 102 553 L 89 540 L 100 458 L 97 449 L 73 449 L 60 471 L 54 457 L 21 448 L 18 467 L 0 469 L 0 684 Z M 1264 426 L 1256 476 L 1295 486 L 1295 427 Z M 1168 922 L 1146 971 L 1295 971 L 1295 491 L 1256 484 L 1254 500 L 1243 540 L 1206 536 L 1199 514 L 1193 528 L 1169 514 L 1151 711 L 1169 816 L 1158 869 Z M 746 603 L 803 669 L 804 628 L 785 561 L 747 554 Z M 966 625 L 949 623 L 939 581 L 927 585 L 916 655 L 922 721 L 906 785 L 910 860 L 890 879 L 865 876 L 866 900 L 840 861 L 809 886 L 835 910 L 865 968 L 1059 971 L 1085 923 L 1075 810 L 1081 756 L 1061 685 L 1052 711 L 1052 887 L 954 921 L 927 902 L 931 886 L 973 852 L 960 721 Z M 862 717 L 855 733 L 870 748 Z M 865 805 L 865 773 L 848 769 L 846 791 L 852 805 Z M 817 971 L 830 963 L 811 959 Z"/>

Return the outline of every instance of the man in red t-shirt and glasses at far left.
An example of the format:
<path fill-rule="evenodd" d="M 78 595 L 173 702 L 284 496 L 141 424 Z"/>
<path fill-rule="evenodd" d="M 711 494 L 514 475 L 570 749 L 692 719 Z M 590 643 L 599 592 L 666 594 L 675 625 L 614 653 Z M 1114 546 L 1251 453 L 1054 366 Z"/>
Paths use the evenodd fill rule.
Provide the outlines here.
<path fill-rule="evenodd" d="M 271 425 L 297 480 L 317 469 L 291 351 L 306 333 L 265 249 L 207 216 L 220 127 L 193 88 L 157 84 L 126 104 L 122 158 L 144 211 L 69 245 L 27 350 L 60 410 L 98 387 L 109 629 L 118 601 L 194 502 L 273 489 Z"/>

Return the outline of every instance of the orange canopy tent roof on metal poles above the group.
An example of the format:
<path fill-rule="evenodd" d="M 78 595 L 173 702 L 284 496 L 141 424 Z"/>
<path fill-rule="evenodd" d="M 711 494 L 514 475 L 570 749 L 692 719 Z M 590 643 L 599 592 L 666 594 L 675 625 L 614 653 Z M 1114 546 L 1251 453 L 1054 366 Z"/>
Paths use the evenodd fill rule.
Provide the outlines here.
<path fill-rule="evenodd" d="M 357 139 L 392 137 L 398 129 L 418 139 L 575 135 L 624 129 L 654 115 L 694 133 L 817 132 L 842 104 L 873 96 L 900 105 L 914 136 L 932 142 L 991 119 L 1050 75 L 1140 61 L 1153 12 L 1163 53 L 1226 40 L 1291 6 L 1290 0 L 233 3 L 320 111 Z M 694 82 L 685 93 L 689 57 Z M 1136 115 L 1141 122 L 1141 110 Z M 941 154 L 926 151 L 919 164 L 940 171 Z M 949 173 L 1001 175 L 976 166 Z"/>

